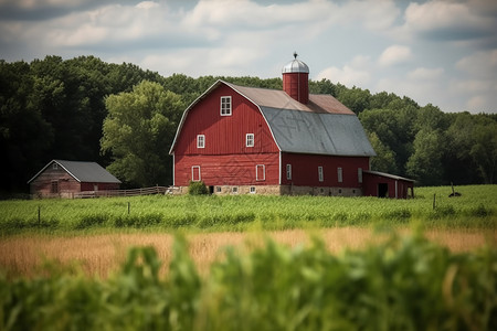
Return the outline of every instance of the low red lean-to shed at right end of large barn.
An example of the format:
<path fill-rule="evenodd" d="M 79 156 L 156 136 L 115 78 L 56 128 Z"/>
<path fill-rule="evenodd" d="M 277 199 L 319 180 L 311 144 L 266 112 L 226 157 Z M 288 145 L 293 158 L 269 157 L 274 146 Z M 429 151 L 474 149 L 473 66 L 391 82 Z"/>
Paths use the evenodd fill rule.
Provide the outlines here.
<path fill-rule="evenodd" d="M 414 197 L 414 180 L 370 170 L 364 170 L 362 175 L 362 190 L 367 196 Z"/>

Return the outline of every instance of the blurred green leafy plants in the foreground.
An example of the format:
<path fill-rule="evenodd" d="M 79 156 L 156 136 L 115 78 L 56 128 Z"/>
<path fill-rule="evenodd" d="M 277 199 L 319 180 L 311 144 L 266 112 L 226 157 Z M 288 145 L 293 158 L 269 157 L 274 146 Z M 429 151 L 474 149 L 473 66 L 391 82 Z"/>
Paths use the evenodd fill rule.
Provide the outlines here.
<path fill-rule="evenodd" d="M 151 247 L 108 279 L 0 276 L 1 330 L 495 330 L 497 250 L 392 237 L 331 255 L 266 241 L 199 276 L 181 237 L 166 277 Z"/>

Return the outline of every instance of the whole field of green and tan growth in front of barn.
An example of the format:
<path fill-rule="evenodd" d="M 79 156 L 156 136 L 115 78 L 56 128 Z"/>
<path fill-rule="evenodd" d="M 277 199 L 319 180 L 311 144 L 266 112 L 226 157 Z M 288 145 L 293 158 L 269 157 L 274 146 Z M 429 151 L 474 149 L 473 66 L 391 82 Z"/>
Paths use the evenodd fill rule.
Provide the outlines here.
<path fill-rule="evenodd" d="M 495 330 L 497 186 L 456 191 L 1 201 L 0 329 Z"/>

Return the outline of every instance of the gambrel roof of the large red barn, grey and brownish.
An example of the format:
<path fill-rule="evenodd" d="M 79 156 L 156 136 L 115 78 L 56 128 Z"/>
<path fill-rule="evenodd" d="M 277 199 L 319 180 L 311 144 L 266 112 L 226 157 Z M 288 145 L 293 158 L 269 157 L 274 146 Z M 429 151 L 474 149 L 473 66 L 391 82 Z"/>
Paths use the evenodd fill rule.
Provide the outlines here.
<path fill-rule="evenodd" d="M 334 156 L 376 156 L 356 114 L 331 95 L 309 95 L 307 105 L 284 90 L 215 82 L 184 111 L 172 142 L 191 108 L 220 85 L 228 85 L 261 109 L 281 151 Z"/>

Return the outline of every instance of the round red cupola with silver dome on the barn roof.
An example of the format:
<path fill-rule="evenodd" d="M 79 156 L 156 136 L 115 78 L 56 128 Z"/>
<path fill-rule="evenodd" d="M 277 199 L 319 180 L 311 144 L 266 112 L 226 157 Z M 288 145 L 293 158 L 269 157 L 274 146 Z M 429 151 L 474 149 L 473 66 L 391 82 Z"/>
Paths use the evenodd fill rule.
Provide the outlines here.
<path fill-rule="evenodd" d="M 309 67 L 307 64 L 297 60 L 297 53 L 294 53 L 292 60 L 282 70 L 283 90 L 300 104 L 309 102 Z"/>

